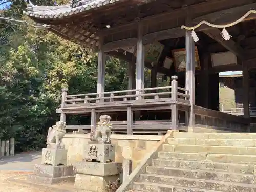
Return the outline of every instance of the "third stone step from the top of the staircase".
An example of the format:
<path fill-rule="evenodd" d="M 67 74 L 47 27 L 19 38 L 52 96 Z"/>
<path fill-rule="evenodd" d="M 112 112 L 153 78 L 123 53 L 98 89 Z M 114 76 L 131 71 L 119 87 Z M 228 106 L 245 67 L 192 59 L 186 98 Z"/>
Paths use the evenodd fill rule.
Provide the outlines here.
<path fill-rule="evenodd" d="M 256 147 L 208 146 L 208 145 L 170 145 L 164 144 L 166 152 L 190 152 L 207 154 L 256 155 Z"/>

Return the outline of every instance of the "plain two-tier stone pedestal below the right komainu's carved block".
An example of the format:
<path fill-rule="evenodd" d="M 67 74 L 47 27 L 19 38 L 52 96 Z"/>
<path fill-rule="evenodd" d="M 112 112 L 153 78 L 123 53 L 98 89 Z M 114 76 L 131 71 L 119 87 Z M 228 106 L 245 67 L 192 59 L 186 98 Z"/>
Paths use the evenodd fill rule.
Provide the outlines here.
<path fill-rule="evenodd" d="M 119 179 L 121 163 L 78 162 L 75 188 L 92 192 L 108 192 L 108 184 Z"/>

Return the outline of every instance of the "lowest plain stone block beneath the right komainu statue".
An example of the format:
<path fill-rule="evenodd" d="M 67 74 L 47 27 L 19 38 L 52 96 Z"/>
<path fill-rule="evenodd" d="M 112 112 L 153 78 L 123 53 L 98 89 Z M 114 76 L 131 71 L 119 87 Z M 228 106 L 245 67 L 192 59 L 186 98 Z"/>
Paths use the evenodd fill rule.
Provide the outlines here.
<path fill-rule="evenodd" d="M 109 183 L 115 182 L 119 175 L 95 176 L 86 174 L 76 174 L 75 188 L 92 192 L 109 192 Z"/>

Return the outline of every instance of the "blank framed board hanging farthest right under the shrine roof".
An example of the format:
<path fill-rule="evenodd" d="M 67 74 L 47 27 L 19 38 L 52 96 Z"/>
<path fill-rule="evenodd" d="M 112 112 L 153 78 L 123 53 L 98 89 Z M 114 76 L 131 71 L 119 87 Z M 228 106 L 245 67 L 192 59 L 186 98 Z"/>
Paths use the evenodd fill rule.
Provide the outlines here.
<path fill-rule="evenodd" d="M 237 64 L 237 56 L 231 51 L 211 54 L 212 67 L 232 64 Z"/>

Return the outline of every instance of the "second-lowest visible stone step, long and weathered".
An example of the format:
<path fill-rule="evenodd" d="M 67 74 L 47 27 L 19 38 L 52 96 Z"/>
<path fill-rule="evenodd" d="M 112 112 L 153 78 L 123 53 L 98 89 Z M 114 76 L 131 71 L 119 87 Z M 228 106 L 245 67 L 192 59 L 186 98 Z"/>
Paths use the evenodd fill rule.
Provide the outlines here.
<path fill-rule="evenodd" d="M 245 183 L 232 183 L 216 180 L 190 179 L 184 177 L 172 177 L 164 175 L 142 174 L 140 181 L 149 183 L 159 183 L 180 187 L 199 188 L 205 190 L 222 191 L 222 192 L 255 192 L 256 185 Z M 147 191 L 147 190 L 144 190 Z"/>

